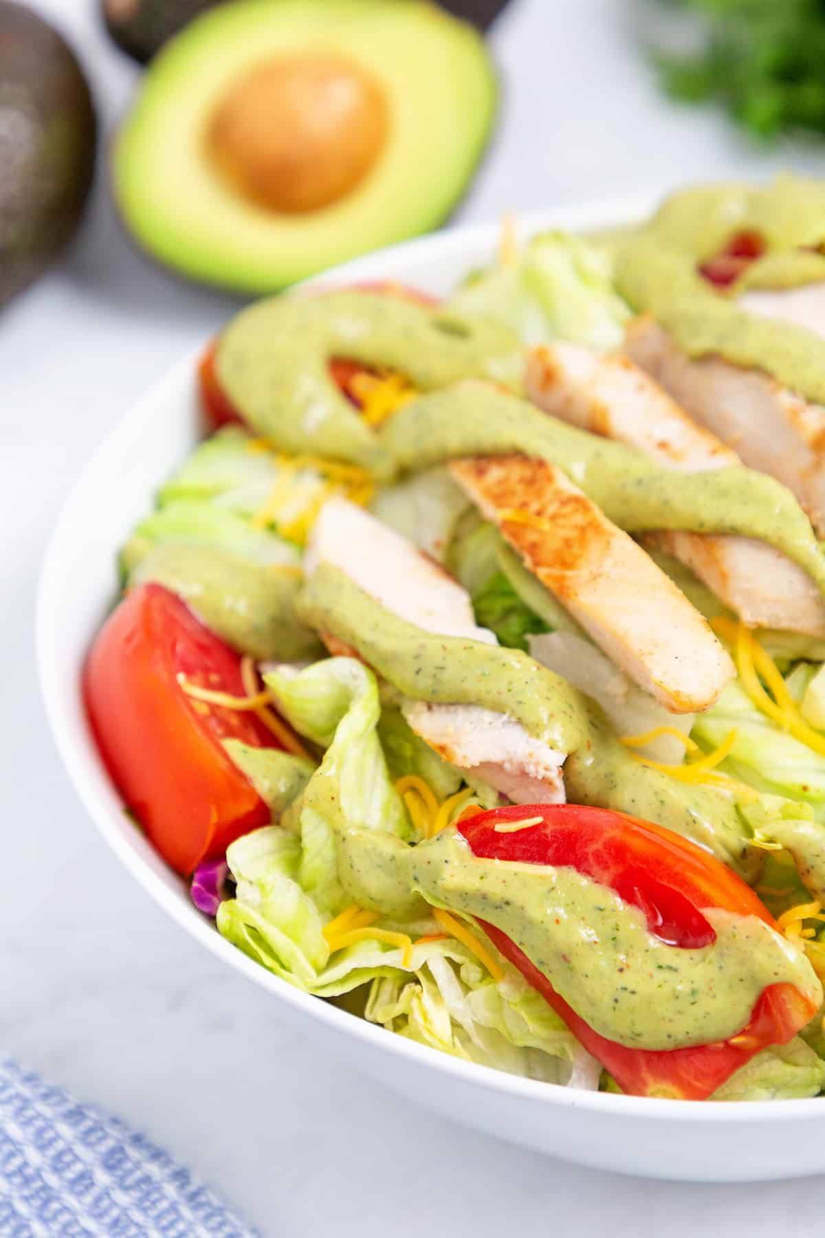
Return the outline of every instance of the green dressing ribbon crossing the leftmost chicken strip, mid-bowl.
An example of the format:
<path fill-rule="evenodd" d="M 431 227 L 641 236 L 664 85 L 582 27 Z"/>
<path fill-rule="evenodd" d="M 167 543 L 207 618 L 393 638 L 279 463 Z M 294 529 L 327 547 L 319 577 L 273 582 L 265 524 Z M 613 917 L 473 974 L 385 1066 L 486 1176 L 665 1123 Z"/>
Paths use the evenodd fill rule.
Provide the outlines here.
<path fill-rule="evenodd" d="M 706 847 L 741 877 L 757 872 L 750 829 L 730 796 L 639 765 L 596 706 L 527 654 L 424 631 L 329 563 L 322 563 L 307 582 L 298 614 L 308 626 L 351 645 L 404 696 L 485 706 L 516 718 L 528 734 L 569 754 L 564 781 L 573 802 L 656 821 Z"/>

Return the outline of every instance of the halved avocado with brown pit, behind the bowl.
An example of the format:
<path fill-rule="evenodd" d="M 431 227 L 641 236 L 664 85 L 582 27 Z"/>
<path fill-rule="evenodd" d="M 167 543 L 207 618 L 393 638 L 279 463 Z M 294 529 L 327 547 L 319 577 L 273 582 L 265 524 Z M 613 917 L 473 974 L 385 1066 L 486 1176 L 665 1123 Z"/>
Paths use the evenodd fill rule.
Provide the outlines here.
<path fill-rule="evenodd" d="M 481 36 L 435 5 L 235 0 L 150 66 L 115 194 L 163 262 L 273 291 L 439 224 L 495 105 Z"/>

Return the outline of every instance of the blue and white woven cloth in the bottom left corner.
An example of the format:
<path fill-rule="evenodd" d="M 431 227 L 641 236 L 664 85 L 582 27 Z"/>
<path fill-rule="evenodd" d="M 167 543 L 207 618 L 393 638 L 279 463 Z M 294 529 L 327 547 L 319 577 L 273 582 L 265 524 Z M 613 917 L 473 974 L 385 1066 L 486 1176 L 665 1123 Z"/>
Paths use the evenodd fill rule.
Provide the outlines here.
<path fill-rule="evenodd" d="M 0 1061 L 2 1238 L 255 1238 L 189 1170 L 118 1118 Z"/>

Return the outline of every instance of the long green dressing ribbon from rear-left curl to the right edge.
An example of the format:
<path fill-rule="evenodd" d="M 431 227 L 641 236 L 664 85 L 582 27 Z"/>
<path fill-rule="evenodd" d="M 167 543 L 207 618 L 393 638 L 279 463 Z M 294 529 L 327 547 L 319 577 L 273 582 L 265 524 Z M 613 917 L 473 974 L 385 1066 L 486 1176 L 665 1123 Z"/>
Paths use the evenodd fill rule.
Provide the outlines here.
<path fill-rule="evenodd" d="M 720 300 L 711 293 L 712 303 Z M 430 394 L 400 409 L 376 435 L 329 378 L 334 355 L 400 370 Z M 628 532 L 757 537 L 825 591 L 825 558 L 810 522 L 773 478 L 738 467 L 675 473 L 490 384 L 450 385 L 484 376 L 517 386 L 522 368 L 516 337 L 494 323 L 360 292 L 260 302 L 230 323 L 218 350 L 226 394 L 280 449 L 355 462 L 382 478 L 460 456 L 536 456 L 563 468 Z"/>

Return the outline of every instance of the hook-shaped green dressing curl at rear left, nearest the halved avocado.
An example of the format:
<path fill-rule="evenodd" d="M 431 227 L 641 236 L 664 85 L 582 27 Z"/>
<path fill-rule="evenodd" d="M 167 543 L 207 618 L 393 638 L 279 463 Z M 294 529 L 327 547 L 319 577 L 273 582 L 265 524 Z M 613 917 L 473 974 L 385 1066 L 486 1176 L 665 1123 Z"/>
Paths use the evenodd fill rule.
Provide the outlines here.
<path fill-rule="evenodd" d="M 392 459 L 329 375 L 335 357 L 398 370 L 421 391 L 471 376 L 519 387 L 523 370 L 518 337 L 497 323 L 397 296 L 330 292 L 271 297 L 237 314 L 220 337 L 218 379 L 282 451 L 387 477 Z"/>

